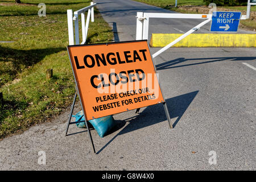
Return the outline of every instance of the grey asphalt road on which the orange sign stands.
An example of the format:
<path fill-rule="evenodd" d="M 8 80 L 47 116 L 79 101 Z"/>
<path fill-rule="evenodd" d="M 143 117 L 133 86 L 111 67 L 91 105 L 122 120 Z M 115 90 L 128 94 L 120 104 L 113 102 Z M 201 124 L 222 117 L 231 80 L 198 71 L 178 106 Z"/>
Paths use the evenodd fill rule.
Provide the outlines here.
<path fill-rule="evenodd" d="M 170 12 L 129 0 L 94 2 L 114 25 L 116 41 L 135 39 L 137 11 Z M 152 20 L 150 34 L 185 31 L 196 23 L 170 22 Z M 0 169 L 255 170 L 256 49 L 170 48 L 154 63 L 174 129 L 160 104 L 117 114 L 112 134 L 100 138 L 92 130 L 93 154 L 86 130 L 72 125 L 69 133 L 76 134 L 64 137 L 67 110 L 2 140 Z M 46 165 L 38 164 L 39 151 L 46 152 Z M 217 154 L 216 164 L 209 164 L 210 151 Z"/>

